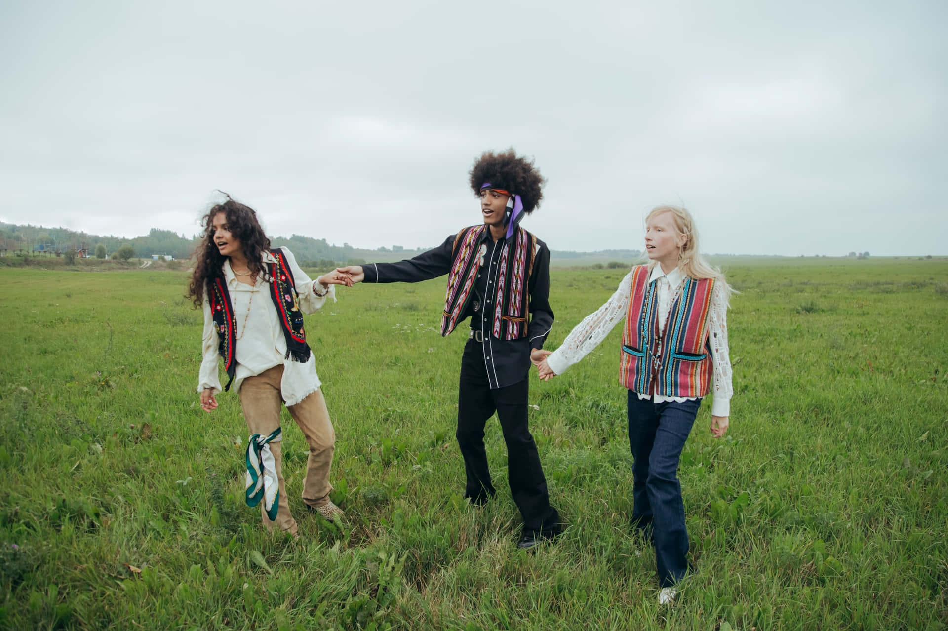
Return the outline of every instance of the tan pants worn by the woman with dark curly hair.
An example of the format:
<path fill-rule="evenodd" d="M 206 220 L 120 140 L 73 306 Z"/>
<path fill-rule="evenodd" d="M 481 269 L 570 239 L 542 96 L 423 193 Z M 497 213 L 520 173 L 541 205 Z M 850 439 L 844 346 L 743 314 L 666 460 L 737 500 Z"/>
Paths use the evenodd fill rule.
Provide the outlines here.
<path fill-rule="evenodd" d="M 274 366 L 254 377 L 247 377 L 240 388 L 240 405 L 244 409 L 244 418 L 250 434 L 266 436 L 280 426 L 280 408 L 283 396 L 280 393 L 280 381 L 283 378 L 283 366 Z M 302 435 L 309 444 L 309 460 L 306 462 L 306 477 L 302 481 L 302 499 L 307 505 L 317 507 L 329 501 L 329 492 L 333 490 L 329 483 L 329 469 L 333 464 L 333 451 L 336 445 L 336 431 L 329 421 L 329 410 L 322 398 L 322 390 L 313 392 L 296 406 L 288 406 L 290 416 L 300 425 Z M 285 428 L 283 433 L 285 434 Z M 270 450 L 277 464 L 277 478 L 280 480 L 280 502 L 277 518 L 270 521 L 260 503 L 264 526 L 272 531 L 276 526 L 296 536 L 297 523 L 290 514 L 283 481 L 283 442 L 271 442 Z"/>

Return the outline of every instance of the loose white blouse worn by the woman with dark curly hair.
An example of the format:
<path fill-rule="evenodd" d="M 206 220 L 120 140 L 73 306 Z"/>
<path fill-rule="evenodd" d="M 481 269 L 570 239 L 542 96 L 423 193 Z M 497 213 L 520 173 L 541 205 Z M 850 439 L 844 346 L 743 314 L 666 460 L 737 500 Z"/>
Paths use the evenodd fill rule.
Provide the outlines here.
<path fill-rule="evenodd" d="M 286 262 L 290 265 L 293 280 L 296 283 L 297 296 L 300 299 L 300 309 L 304 314 L 312 314 L 319 309 L 326 299 L 336 300 L 336 285 L 330 285 L 329 291 L 323 296 L 317 296 L 314 289 L 321 291 L 322 287 L 316 280 L 311 280 L 289 249 L 283 247 Z M 264 262 L 276 261 L 269 252 L 264 252 Z M 234 375 L 232 388 L 240 391 L 241 384 L 247 377 L 260 374 L 264 370 L 283 364 L 283 380 L 280 384 L 283 401 L 287 406 L 295 406 L 309 394 L 319 389 L 319 375 L 316 373 L 316 363 L 310 353 L 309 361 L 305 364 L 284 359 L 286 355 L 286 338 L 283 336 L 283 327 L 280 324 L 280 315 L 270 297 L 269 283 L 258 277 L 253 285 L 240 282 L 230 268 L 230 260 L 224 261 L 224 279 L 228 285 L 228 293 L 236 320 L 234 336 L 237 338 L 235 359 L 237 372 Z M 198 378 L 197 391 L 213 388 L 214 394 L 221 391 L 221 381 L 218 377 L 220 353 L 217 352 L 217 327 L 210 313 L 210 300 L 207 289 L 204 293 L 204 336 L 201 344 L 201 371 Z"/>

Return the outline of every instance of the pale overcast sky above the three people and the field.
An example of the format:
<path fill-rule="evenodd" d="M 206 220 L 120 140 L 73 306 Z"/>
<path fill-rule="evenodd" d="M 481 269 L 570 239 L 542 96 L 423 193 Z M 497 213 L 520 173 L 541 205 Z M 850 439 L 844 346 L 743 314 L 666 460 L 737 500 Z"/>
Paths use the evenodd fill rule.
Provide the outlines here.
<path fill-rule="evenodd" d="M 948 254 L 948 3 L 0 3 L 0 220 L 433 246 L 483 150 L 551 248 Z"/>

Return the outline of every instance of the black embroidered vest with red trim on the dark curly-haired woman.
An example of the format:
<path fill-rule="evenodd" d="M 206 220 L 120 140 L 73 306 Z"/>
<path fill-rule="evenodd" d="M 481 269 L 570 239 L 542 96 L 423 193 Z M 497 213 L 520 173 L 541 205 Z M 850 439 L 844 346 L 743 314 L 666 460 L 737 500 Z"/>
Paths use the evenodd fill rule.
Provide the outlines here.
<path fill-rule="evenodd" d="M 309 345 L 306 344 L 306 335 L 302 328 L 302 312 L 300 301 L 296 293 L 296 283 L 293 273 L 286 263 L 286 257 L 280 249 L 270 250 L 275 262 L 264 262 L 264 279 L 270 286 L 270 299 L 277 308 L 280 316 L 280 327 L 286 340 L 286 355 L 284 359 L 306 363 L 309 361 Z M 235 347 L 237 345 L 237 321 L 234 318 L 233 303 L 230 301 L 228 285 L 223 278 L 209 280 L 208 296 L 210 298 L 210 314 L 217 328 L 217 352 L 224 360 L 224 370 L 228 373 L 228 383 L 225 390 L 230 389 L 230 383 L 237 372 Z"/>

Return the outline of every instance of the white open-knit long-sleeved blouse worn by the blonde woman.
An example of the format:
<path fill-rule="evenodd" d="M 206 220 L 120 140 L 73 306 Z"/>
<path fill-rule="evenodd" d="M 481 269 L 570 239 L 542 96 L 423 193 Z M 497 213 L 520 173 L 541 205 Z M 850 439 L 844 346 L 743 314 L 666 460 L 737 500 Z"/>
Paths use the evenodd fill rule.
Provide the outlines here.
<path fill-rule="evenodd" d="M 649 282 L 658 281 L 658 326 L 665 330 L 665 318 L 673 296 L 684 281 L 684 275 L 676 267 L 667 274 L 662 271 L 662 265 L 656 264 L 648 277 Z M 632 273 L 626 275 L 619 283 L 619 288 L 606 304 L 595 313 L 587 315 L 567 335 L 562 345 L 553 354 L 546 358 L 550 370 L 562 374 L 571 366 L 578 363 L 583 357 L 599 346 L 602 340 L 610 334 L 629 313 L 629 298 L 631 297 Z M 714 416 L 729 416 L 731 413 L 731 396 L 734 389 L 731 386 L 731 360 L 727 351 L 727 301 L 724 298 L 720 283 L 715 284 L 711 293 L 711 309 L 708 314 L 708 339 L 711 345 L 712 385 L 714 399 L 711 405 L 711 414 Z M 637 392 L 640 399 L 654 398 L 655 403 L 665 401 L 686 401 L 696 397 L 665 397 Z"/>

